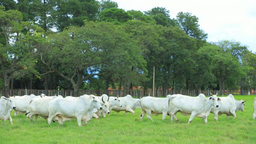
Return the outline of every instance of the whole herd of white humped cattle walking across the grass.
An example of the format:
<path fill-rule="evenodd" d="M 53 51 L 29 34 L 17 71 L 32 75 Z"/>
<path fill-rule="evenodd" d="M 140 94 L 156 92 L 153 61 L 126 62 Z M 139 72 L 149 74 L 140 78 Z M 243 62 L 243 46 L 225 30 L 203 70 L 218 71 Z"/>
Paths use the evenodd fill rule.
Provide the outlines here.
<path fill-rule="evenodd" d="M 0 119 L 10 120 L 12 124 L 12 118 L 10 116 L 11 111 L 14 109 L 14 116 L 18 113 L 26 114 L 27 118 L 34 121 L 38 116 L 48 120 L 48 124 L 52 121 L 58 121 L 63 124 L 64 121 L 76 118 L 78 126 L 84 126 L 92 118 L 99 120 L 99 117 L 106 117 L 106 114 L 110 114 L 110 111 L 115 112 L 125 111 L 125 114 L 131 112 L 134 114 L 134 110 L 141 108 L 140 121 L 147 113 L 147 117 L 153 121 L 151 115 L 162 114 L 164 120 L 167 115 L 170 116 L 171 122 L 173 118 L 178 121 L 176 113 L 180 112 L 182 115 L 190 115 L 188 123 L 190 123 L 195 116 L 204 118 L 204 122 L 207 123 L 207 117 L 211 113 L 214 114 L 214 118 L 218 121 L 218 115 L 226 114 L 234 116 L 236 118 L 236 111 L 244 111 L 244 105 L 246 101 L 235 100 L 232 94 L 227 97 L 217 97 L 217 94 L 208 98 L 204 94 L 199 94 L 196 97 L 185 96 L 181 94 L 167 95 L 166 98 L 156 98 L 146 96 L 143 98 L 132 98 L 127 95 L 124 97 L 113 97 L 103 94 L 102 96 L 94 96 L 84 94 L 80 97 L 67 96 L 46 96 L 40 94 L 35 96 L 34 94 L 25 96 L 2 96 L 0 98 Z M 256 118 L 256 98 L 254 99 L 254 113 L 253 119 Z M 81 124 L 81 122 L 84 122 Z"/>

